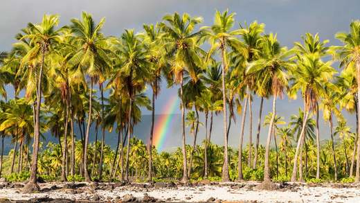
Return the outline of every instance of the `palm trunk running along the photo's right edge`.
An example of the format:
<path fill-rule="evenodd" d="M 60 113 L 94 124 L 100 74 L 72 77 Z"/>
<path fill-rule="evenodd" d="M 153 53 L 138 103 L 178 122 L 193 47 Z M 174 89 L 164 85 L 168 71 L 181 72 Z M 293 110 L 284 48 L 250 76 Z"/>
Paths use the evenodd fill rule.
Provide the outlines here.
<path fill-rule="evenodd" d="M 360 58 L 357 59 L 357 63 L 356 63 L 356 67 L 357 67 L 357 84 L 360 84 Z M 357 85 L 357 114 L 360 114 L 360 85 Z M 357 125 L 360 125 L 360 119 L 359 117 L 357 118 Z M 360 127 L 358 127 L 357 129 L 357 173 L 356 173 L 356 177 L 355 177 L 355 182 L 359 183 L 360 182 Z"/>

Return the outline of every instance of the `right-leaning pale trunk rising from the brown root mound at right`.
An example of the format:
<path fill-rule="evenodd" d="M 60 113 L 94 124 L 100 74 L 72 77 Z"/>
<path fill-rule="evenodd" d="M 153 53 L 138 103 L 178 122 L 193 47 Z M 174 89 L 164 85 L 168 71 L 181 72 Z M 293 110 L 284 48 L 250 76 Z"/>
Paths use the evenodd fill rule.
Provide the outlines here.
<path fill-rule="evenodd" d="M 269 123 L 269 132 L 267 133 L 267 145 L 265 147 L 265 161 L 264 161 L 264 182 L 271 182 L 270 169 L 269 169 L 269 155 L 270 155 L 270 142 L 271 133 L 273 132 L 273 122 L 276 115 L 276 94 L 273 95 L 273 114 Z"/>

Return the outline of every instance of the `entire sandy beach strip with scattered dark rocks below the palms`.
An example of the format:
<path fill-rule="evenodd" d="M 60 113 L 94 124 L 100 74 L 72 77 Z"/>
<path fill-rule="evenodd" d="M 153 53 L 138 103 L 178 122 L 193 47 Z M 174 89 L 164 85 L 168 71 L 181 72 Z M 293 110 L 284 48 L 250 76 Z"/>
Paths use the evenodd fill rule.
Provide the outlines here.
<path fill-rule="evenodd" d="M 360 185 L 278 184 L 259 191 L 258 182 L 197 183 L 60 183 L 40 184 L 40 193 L 21 193 L 24 183 L 3 183 L 0 202 L 360 202 Z"/>

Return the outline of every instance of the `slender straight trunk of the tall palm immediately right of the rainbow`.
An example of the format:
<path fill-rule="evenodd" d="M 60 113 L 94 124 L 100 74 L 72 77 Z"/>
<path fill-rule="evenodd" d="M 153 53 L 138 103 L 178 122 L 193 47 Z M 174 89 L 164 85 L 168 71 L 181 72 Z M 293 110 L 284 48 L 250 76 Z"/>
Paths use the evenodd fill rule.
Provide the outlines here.
<path fill-rule="evenodd" d="M 182 150 L 183 150 L 183 178 L 182 182 L 189 182 L 188 178 L 188 166 L 186 161 L 186 139 L 185 139 L 185 106 L 183 104 L 183 73 L 181 73 L 180 82 L 180 96 L 181 96 L 181 132 L 182 132 Z"/>

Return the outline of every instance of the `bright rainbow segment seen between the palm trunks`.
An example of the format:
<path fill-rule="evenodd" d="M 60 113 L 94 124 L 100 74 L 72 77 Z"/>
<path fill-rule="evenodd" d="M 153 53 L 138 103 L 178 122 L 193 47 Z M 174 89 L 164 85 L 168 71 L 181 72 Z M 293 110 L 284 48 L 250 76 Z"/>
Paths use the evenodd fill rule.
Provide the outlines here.
<path fill-rule="evenodd" d="M 179 107 L 177 95 L 172 96 L 168 103 L 163 107 L 158 121 L 155 121 L 156 125 L 154 128 L 154 146 L 156 149 L 161 151 L 165 143 L 166 137 L 169 135 L 171 130 L 172 118 L 174 117 L 174 111 Z"/>

